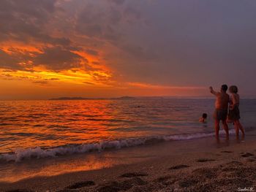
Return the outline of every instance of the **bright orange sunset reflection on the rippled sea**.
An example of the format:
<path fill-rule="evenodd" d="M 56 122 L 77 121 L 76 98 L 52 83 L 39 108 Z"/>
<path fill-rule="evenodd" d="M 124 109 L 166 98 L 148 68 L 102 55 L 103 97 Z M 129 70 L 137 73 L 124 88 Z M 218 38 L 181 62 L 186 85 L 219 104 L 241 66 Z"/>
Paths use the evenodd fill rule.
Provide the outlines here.
<path fill-rule="evenodd" d="M 142 134 L 125 131 L 129 121 L 135 122 L 137 117 L 129 115 L 129 107 L 118 106 L 119 101 L 4 102 L 6 110 L 2 108 L 4 122 L 0 134 L 5 139 L 1 153 L 33 147 L 97 143 Z"/>

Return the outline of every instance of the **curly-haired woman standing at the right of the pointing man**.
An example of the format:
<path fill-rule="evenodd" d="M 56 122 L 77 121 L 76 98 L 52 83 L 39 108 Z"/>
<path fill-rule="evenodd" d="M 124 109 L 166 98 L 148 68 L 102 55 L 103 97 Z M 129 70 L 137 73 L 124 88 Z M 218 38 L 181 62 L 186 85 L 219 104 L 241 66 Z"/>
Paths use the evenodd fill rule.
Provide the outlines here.
<path fill-rule="evenodd" d="M 240 123 L 240 111 L 239 111 L 239 102 L 240 96 L 238 95 L 238 88 L 235 85 L 230 86 L 228 89 L 230 91 L 230 110 L 228 112 L 228 120 L 232 121 L 236 128 L 236 137 L 239 138 L 239 129 L 242 132 L 242 137 L 244 137 L 244 128 Z"/>

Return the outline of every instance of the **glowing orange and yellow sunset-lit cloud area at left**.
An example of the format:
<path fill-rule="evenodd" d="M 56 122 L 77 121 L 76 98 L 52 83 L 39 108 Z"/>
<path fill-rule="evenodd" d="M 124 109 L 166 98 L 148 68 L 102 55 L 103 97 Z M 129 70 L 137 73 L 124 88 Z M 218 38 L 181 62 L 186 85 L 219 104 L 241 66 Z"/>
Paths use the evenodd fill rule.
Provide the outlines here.
<path fill-rule="evenodd" d="M 30 45 L 15 41 L 1 42 L 0 54 L 4 54 L 5 57 L 0 58 L 0 80 L 26 80 L 38 85 L 46 85 L 45 81 L 47 80 L 86 86 L 109 86 L 113 83 L 110 69 L 99 61 L 99 55 L 92 54 L 92 49 L 83 51 L 64 48 L 65 51 L 67 50 L 64 52 L 60 47 L 59 50 L 62 51 L 60 55 L 57 52 L 59 50 L 54 50 L 55 52 L 47 57 L 45 54 L 48 53 L 46 52 L 48 48 L 52 49 L 54 47 L 52 45 L 45 47 L 45 45 L 37 42 Z M 96 50 L 94 51 L 96 52 Z M 63 58 L 67 57 L 69 53 L 81 58 L 80 66 L 72 66 L 70 63 L 72 60 L 63 61 Z M 57 58 L 54 58 L 54 55 Z M 38 56 L 44 56 L 45 58 L 38 60 Z M 58 57 L 62 59 L 62 63 L 56 63 L 59 62 Z M 12 62 L 12 65 L 10 62 Z M 35 62 L 38 64 L 35 65 Z M 3 64 L 6 65 L 3 66 Z M 57 66 L 58 68 L 55 67 L 55 69 L 59 69 L 58 71 L 51 70 L 48 69 L 50 64 L 65 64 L 69 69 L 61 69 L 63 66 Z"/>

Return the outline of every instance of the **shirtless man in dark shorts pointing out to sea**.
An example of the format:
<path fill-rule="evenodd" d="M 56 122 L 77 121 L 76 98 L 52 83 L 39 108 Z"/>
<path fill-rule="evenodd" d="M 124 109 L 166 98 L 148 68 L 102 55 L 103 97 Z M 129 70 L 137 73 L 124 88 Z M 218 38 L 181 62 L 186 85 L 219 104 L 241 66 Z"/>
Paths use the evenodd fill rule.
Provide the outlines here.
<path fill-rule="evenodd" d="M 214 112 L 214 119 L 215 119 L 215 136 L 216 139 L 219 139 L 219 122 L 222 121 L 222 126 L 226 132 L 226 138 L 228 139 L 228 126 L 227 126 L 227 108 L 230 96 L 226 93 L 227 92 L 227 85 L 222 85 L 220 92 L 214 91 L 212 87 L 210 87 L 211 93 L 216 96 L 215 102 L 215 112 Z"/>

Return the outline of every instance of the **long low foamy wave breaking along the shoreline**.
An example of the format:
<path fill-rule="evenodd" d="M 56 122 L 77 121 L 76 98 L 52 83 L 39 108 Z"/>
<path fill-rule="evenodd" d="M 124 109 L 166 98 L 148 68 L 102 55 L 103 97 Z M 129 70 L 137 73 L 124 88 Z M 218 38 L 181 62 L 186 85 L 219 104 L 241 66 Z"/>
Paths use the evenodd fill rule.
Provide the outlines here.
<path fill-rule="evenodd" d="M 230 134 L 234 134 L 234 130 L 230 130 Z M 224 134 L 224 131 L 220 131 L 220 134 Z M 189 140 L 199 139 L 203 137 L 214 136 L 214 133 L 197 133 L 197 134 L 179 134 L 179 135 L 167 135 L 167 136 L 153 136 L 144 138 L 131 138 L 121 139 L 113 141 L 102 141 L 91 144 L 80 145 L 64 145 L 59 147 L 53 147 L 44 149 L 41 147 L 27 148 L 22 150 L 16 150 L 13 153 L 0 154 L 0 161 L 19 162 L 29 158 L 49 158 L 59 155 L 71 155 L 75 153 L 89 153 L 89 152 L 101 152 L 106 149 L 121 149 L 124 147 L 135 147 L 138 145 L 150 145 L 157 142 L 175 141 L 175 140 Z"/>

